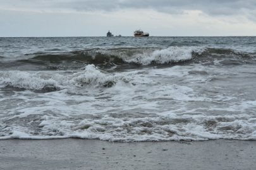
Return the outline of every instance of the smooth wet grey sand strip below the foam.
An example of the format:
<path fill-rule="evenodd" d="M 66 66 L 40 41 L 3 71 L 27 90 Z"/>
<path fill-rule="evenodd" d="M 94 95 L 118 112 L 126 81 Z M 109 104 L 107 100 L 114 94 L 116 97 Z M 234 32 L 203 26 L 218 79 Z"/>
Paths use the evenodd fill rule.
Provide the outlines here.
<path fill-rule="evenodd" d="M 256 169 L 256 141 L 0 140 L 0 169 Z"/>

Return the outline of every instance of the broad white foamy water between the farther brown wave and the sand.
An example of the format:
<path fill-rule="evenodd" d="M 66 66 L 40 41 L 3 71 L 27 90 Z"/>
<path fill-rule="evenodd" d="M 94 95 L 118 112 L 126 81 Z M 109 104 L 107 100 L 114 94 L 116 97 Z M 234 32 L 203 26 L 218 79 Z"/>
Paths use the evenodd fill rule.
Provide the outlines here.
<path fill-rule="evenodd" d="M 254 96 L 234 94 L 222 87 L 226 82 L 216 86 L 214 77 L 234 75 L 222 67 L 193 64 L 109 74 L 87 65 L 68 74 L 0 74 L 1 83 L 9 86 L 59 88 L 51 93 L 16 91 L 11 98 L 3 92 L 0 139 L 256 139 Z M 106 88 L 108 82 L 113 85 Z"/>

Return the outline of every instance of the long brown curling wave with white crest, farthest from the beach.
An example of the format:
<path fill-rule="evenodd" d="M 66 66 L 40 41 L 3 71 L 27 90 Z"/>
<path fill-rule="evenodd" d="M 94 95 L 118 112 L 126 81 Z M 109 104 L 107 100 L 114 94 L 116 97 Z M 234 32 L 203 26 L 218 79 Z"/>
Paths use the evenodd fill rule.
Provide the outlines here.
<path fill-rule="evenodd" d="M 26 54 L 21 60 L 1 63 L 2 67 L 19 66 L 29 67 L 30 70 L 67 70 L 82 69 L 84 65 L 94 64 L 104 68 L 116 67 L 117 65 L 155 65 L 155 64 L 184 64 L 184 62 L 212 62 L 216 59 L 251 60 L 256 55 L 225 48 L 203 48 L 203 47 L 140 47 L 140 48 L 92 48 L 89 50 L 78 50 L 63 53 Z M 240 60 L 240 61 L 238 61 Z M 251 62 L 251 61 L 250 61 Z M 234 64 L 226 62 L 227 64 Z M 35 69 L 32 69 L 35 68 Z M 23 70 L 26 70 L 23 69 Z"/>

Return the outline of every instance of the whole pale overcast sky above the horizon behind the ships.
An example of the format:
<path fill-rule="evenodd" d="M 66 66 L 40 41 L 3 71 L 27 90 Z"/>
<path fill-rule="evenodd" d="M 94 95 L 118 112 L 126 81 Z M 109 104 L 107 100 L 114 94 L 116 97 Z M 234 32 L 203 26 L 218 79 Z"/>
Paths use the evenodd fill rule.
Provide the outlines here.
<path fill-rule="evenodd" d="M 0 0 L 0 37 L 256 36 L 256 0 Z"/>

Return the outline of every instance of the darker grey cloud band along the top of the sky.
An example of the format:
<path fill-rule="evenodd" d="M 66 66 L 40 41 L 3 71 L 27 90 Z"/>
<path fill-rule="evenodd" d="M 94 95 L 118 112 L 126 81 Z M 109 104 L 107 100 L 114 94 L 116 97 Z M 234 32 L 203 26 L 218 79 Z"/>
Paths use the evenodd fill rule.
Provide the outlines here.
<path fill-rule="evenodd" d="M 3 8 L 35 8 L 39 10 L 115 11 L 117 9 L 155 9 L 169 14 L 182 14 L 186 10 L 200 10 L 210 16 L 244 15 L 256 18 L 255 0 L 12 0 L 1 1 Z"/>

